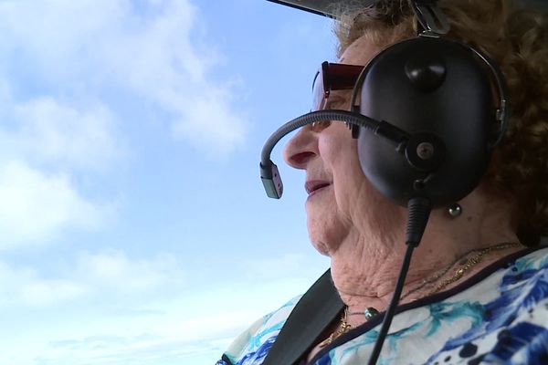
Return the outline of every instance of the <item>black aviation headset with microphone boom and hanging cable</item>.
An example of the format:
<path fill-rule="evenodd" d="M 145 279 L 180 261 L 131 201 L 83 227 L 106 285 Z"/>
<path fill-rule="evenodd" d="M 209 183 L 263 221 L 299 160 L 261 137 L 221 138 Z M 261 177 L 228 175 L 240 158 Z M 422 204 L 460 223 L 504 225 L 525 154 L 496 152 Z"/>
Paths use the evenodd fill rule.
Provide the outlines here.
<path fill-rule="evenodd" d="M 418 35 L 385 48 L 364 67 L 353 87 L 351 110 L 312 111 L 291 120 L 270 136 L 260 162 L 267 194 L 280 198 L 283 185 L 270 160 L 274 146 L 292 130 L 340 120 L 358 140 L 367 179 L 408 207 L 407 252 L 370 364 L 382 349 L 430 210 L 462 199 L 478 185 L 510 116 L 497 65 L 478 49 L 444 38 L 449 23 L 437 0 L 409 3 Z"/>

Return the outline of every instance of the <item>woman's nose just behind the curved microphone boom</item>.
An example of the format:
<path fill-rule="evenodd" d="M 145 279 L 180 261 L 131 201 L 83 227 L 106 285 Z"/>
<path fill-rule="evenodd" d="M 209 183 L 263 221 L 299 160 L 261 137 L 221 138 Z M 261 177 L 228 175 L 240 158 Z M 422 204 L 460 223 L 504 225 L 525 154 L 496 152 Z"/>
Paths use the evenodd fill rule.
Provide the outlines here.
<path fill-rule="evenodd" d="M 283 149 L 283 159 L 295 169 L 304 170 L 318 155 L 318 133 L 311 126 L 303 127 L 291 137 Z"/>

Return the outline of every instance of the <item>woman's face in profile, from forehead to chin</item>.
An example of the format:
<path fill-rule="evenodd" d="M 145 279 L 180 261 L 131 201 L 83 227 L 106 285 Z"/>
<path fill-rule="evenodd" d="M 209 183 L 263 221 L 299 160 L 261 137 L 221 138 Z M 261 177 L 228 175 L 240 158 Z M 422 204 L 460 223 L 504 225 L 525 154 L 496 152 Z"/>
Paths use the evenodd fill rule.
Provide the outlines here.
<path fill-rule="evenodd" d="M 339 62 L 365 65 L 378 50 L 361 37 L 344 51 Z M 327 108 L 348 110 L 351 92 L 332 91 Z M 394 224 L 401 227 L 399 207 L 366 180 L 356 141 L 344 123 L 302 128 L 286 144 L 284 159 L 306 172 L 309 235 L 321 254 L 333 255 L 349 235 L 383 235 L 389 234 Z"/>

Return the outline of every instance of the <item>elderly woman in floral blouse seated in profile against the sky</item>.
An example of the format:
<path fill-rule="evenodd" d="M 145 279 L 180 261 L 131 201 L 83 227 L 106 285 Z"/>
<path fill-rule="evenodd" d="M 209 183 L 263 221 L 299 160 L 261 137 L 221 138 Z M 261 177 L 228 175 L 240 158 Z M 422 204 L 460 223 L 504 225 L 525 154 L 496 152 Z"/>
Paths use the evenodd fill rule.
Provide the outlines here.
<path fill-rule="evenodd" d="M 545 364 L 548 249 L 539 242 L 548 234 L 548 17 L 503 0 L 439 6 L 450 21 L 448 37 L 500 66 L 511 117 L 479 185 L 430 214 L 379 363 Z M 416 36 L 405 0 L 339 19 L 341 64 L 367 65 L 385 47 Z M 322 108 L 350 110 L 351 93 L 333 89 Z M 217 364 L 370 359 L 406 250 L 407 210 L 365 177 L 356 143 L 343 123 L 323 121 L 300 129 L 284 150 L 286 162 L 306 172 L 311 243 L 331 257 L 331 274 L 311 291 L 332 287 L 337 298 L 307 293 L 290 301 L 259 319 Z M 341 306 L 327 308 L 337 300 Z"/>

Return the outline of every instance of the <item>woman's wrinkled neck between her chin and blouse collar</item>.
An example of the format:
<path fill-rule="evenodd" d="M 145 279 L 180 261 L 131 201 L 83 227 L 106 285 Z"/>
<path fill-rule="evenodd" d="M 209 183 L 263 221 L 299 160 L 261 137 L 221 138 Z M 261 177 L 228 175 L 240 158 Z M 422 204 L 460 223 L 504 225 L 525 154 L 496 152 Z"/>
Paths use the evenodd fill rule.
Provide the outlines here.
<path fill-rule="evenodd" d="M 409 267 L 402 303 L 430 294 L 439 282 L 454 276 L 458 261 L 477 255 L 479 249 L 519 242 L 511 229 L 509 210 L 501 209 L 497 203 L 486 203 L 472 194 L 462 202 L 465 213 L 458 218 L 451 218 L 445 210 L 432 212 L 427 232 Z M 406 218 L 405 208 L 402 213 Z M 405 235 L 400 232 L 404 226 L 405 222 L 398 222 L 390 234 L 383 235 L 382 225 L 378 229 L 355 225 L 332 252 L 333 281 L 351 311 L 368 307 L 382 311 L 387 307 L 406 250 Z M 442 290 L 455 287 L 481 268 L 519 249 L 517 245 L 491 249 L 464 276 L 449 280 Z"/>

